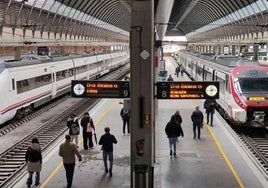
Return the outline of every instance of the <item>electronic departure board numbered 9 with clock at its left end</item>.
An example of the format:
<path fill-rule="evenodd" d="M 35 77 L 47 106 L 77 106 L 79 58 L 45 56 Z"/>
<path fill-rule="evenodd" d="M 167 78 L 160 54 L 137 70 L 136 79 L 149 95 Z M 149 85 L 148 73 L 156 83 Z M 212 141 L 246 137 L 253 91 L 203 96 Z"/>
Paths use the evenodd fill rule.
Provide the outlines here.
<path fill-rule="evenodd" d="M 72 97 L 130 98 L 129 81 L 72 81 Z"/>

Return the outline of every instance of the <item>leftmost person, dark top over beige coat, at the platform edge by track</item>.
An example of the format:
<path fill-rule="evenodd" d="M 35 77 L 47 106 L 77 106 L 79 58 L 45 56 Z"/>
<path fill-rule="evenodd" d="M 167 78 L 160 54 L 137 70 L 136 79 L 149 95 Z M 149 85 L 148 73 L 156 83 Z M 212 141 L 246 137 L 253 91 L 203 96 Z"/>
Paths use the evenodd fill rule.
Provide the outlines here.
<path fill-rule="evenodd" d="M 31 145 L 28 147 L 25 160 L 27 163 L 27 171 L 29 172 L 29 177 L 27 179 L 27 187 L 32 185 L 32 177 L 35 172 L 35 186 L 40 184 L 40 172 L 42 169 L 42 153 L 39 141 L 37 138 L 32 139 Z"/>

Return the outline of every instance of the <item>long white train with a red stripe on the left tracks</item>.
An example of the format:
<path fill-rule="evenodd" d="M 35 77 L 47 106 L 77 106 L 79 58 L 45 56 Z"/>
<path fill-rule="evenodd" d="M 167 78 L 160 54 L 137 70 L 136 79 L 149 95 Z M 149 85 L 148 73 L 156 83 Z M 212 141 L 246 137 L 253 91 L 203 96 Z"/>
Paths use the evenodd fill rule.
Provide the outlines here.
<path fill-rule="evenodd" d="M 70 92 L 71 80 L 98 78 L 128 62 L 126 51 L 0 61 L 0 124 Z"/>

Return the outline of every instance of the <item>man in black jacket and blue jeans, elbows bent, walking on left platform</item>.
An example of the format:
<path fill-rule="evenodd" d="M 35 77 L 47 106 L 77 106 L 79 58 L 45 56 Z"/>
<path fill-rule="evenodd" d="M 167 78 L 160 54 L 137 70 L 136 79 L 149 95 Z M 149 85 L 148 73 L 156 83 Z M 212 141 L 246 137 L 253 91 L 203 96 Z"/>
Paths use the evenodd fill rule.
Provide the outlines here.
<path fill-rule="evenodd" d="M 104 128 L 105 134 L 101 136 L 99 145 L 102 145 L 102 157 L 105 168 L 105 173 L 108 173 L 108 164 L 107 158 L 109 158 L 110 166 L 109 166 L 109 174 L 113 175 L 113 144 L 117 143 L 117 140 L 114 135 L 110 134 L 110 128 Z"/>

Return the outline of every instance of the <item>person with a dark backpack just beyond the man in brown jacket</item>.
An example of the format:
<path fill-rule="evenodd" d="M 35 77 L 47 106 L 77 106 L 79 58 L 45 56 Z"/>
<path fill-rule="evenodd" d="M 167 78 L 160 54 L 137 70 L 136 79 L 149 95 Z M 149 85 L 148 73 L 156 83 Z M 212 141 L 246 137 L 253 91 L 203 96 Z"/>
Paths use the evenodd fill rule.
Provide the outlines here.
<path fill-rule="evenodd" d="M 80 127 L 78 118 L 75 114 L 72 114 L 67 120 L 67 127 L 69 128 L 69 135 L 71 136 L 71 142 L 75 140 L 76 147 L 78 148 L 78 135 L 80 133 Z"/>

